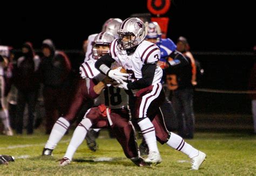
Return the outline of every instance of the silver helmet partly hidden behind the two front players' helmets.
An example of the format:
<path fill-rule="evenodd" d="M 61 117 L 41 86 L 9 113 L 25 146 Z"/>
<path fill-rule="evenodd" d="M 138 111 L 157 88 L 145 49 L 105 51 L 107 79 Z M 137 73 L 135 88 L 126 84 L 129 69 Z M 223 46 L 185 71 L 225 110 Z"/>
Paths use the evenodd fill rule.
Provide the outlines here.
<path fill-rule="evenodd" d="M 110 32 L 115 38 L 118 38 L 117 31 L 120 29 L 120 25 L 123 20 L 119 18 L 110 18 L 102 26 L 102 32 Z"/>

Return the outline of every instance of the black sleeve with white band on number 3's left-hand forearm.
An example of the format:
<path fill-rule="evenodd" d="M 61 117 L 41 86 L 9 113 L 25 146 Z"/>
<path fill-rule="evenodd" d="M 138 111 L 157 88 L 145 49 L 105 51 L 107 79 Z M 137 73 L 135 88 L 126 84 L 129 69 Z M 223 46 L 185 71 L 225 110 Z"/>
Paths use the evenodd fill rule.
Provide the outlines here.
<path fill-rule="evenodd" d="M 114 61 L 115 60 L 111 58 L 109 54 L 105 54 L 95 62 L 95 68 L 97 68 L 100 73 L 107 75 L 107 73 L 110 71 L 111 64 Z"/>

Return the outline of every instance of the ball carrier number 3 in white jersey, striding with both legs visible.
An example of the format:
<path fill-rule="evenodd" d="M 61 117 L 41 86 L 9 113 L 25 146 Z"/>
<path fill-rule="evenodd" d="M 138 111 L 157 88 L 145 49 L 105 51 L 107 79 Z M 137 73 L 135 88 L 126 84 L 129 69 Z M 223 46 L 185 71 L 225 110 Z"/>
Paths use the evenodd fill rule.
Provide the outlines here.
<path fill-rule="evenodd" d="M 161 162 L 157 136 L 161 144 L 166 143 L 187 154 L 191 158 L 192 169 L 198 170 L 206 154 L 194 149 L 175 133 L 167 131 L 161 116 L 159 106 L 164 102 L 165 95 L 160 83 L 163 72 L 157 65 L 160 59 L 159 48 L 144 40 L 145 25 L 138 18 L 125 19 L 118 34 L 119 39 L 112 41 L 109 54 L 97 60 L 95 66 L 101 73 L 116 80 L 117 87 L 132 91 L 135 104 L 132 114 L 138 119 L 138 125 L 149 147 L 146 163 Z M 172 58 L 174 60 L 168 62 L 170 66 L 188 64 L 186 58 L 179 52 L 173 52 Z M 110 69 L 114 61 L 122 65 L 129 74 Z M 125 82 L 126 80 L 129 82 Z"/>

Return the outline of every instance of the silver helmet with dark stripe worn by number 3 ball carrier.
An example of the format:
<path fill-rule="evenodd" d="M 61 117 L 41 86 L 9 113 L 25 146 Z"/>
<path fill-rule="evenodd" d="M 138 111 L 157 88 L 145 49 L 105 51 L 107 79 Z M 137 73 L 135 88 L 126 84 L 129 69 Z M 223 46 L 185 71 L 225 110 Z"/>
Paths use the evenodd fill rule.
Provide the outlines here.
<path fill-rule="evenodd" d="M 119 48 L 128 50 L 139 45 L 145 39 L 145 25 L 139 18 L 127 18 L 117 33 L 119 34 L 117 41 Z M 124 38 L 128 40 L 124 40 Z"/>

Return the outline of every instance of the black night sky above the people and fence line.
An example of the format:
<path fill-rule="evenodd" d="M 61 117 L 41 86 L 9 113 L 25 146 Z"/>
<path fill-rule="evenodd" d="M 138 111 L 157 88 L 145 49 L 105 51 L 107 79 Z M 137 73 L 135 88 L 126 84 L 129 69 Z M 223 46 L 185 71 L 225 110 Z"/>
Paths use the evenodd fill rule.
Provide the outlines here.
<path fill-rule="evenodd" d="M 82 47 L 83 40 L 102 29 L 109 18 L 125 19 L 132 13 L 149 12 L 146 1 L 92 1 L 83 5 L 73 1 L 10 4 L 2 8 L 0 44 L 18 48 L 31 41 L 40 48 L 51 38 L 59 49 Z M 252 51 L 255 44 L 255 3 L 175 0 L 163 17 L 170 17 L 167 37 L 176 41 L 185 36 L 194 51 Z M 245 3 L 246 2 L 246 3 Z M 84 1 L 86 3 L 86 1 Z M 25 6 L 25 7 L 24 7 Z M 31 6 L 31 5 L 30 5 Z M 2 6 L 3 7 L 3 6 Z M 93 10 L 92 12 L 89 12 Z M 99 17 L 98 17 L 99 16 Z"/>

